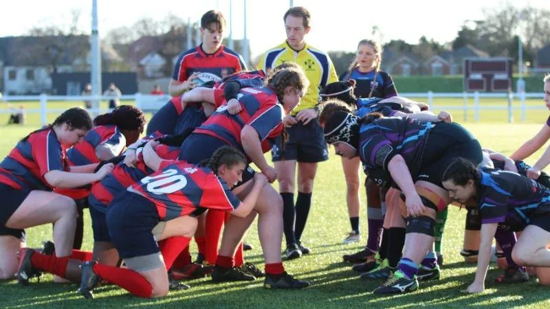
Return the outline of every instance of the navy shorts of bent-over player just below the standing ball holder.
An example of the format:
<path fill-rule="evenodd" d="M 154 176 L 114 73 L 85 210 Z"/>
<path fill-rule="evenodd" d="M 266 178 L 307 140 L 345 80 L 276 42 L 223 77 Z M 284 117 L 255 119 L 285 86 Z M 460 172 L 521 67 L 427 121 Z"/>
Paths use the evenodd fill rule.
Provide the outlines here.
<path fill-rule="evenodd" d="M 206 115 L 202 109 L 188 105 L 181 115 L 177 115 L 174 104 L 168 102 L 151 117 L 147 124 L 146 134 L 151 135 L 155 131 L 159 131 L 162 134 L 179 135 L 186 128 L 197 128 L 205 120 Z"/>

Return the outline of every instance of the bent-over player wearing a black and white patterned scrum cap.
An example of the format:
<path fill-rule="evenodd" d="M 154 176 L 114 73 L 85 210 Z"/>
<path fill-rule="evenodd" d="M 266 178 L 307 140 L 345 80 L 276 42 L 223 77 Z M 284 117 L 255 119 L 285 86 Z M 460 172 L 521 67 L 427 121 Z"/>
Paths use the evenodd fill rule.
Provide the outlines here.
<path fill-rule="evenodd" d="M 426 253 L 433 247 L 437 211 L 445 209 L 451 201 L 441 185 L 441 173 L 456 157 L 481 162 L 481 146 L 458 124 L 386 118 L 380 113 L 360 118 L 339 110 L 338 104 L 342 103 L 327 102 L 320 106 L 321 117 L 327 119 L 324 129 L 327 143 L 334 145 L 337 155 L 360 156 L 369 176 L 392 181 L 405 200 L 403 258 L 393 275 L 374 292 L 395 294 L 416 290 L 419 271 L 439 277 L 436 255 Z"/>

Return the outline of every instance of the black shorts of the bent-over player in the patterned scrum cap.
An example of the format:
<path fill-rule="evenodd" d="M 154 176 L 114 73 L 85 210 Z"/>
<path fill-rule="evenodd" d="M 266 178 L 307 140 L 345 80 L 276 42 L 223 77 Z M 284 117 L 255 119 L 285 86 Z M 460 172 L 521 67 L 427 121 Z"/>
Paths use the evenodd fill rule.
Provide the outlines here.
<path fill-rule="evenodd" d="M 438 123 L 428 137 L 417 179 L 439 187 L 443 172 L 456 158 L 462 157 L 478 165 L 483 160 L 481 145 L 459 124 Z"/>

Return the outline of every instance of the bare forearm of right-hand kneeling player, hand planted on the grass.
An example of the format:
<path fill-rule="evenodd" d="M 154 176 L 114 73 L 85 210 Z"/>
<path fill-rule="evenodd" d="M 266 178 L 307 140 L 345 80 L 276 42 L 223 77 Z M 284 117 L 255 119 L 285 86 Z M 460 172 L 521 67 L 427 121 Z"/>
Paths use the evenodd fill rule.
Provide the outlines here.
<path fill-rule="evenodd" d="M 485 290 L 485 277 L 491 261 L 491 246 L 498 223 L 484 223 L 481 225 L 481 241 L 477 257 L 477 270 L 474 283 L 468 286 L 469 293 L 481 293 Z"/>

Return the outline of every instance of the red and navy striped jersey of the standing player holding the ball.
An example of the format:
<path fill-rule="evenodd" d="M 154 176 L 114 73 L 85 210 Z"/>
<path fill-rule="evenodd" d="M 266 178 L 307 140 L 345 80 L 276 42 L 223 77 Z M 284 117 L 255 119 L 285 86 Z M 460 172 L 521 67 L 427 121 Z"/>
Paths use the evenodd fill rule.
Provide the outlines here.
<path fill-rule="evenodd" d="M 243 57 L 221 45 L 214 54 L 206 54 L 202 45 L 182 53 L 176 60 L 172 79 L 185 82 L 192 73 L 212 74 L 219 79 L 246 69 Z M 203 80 L 204 82 L 208 80 Z"/>

